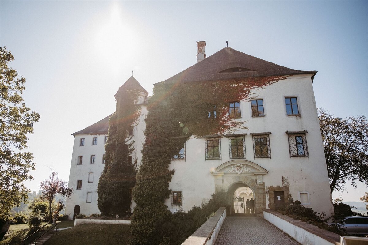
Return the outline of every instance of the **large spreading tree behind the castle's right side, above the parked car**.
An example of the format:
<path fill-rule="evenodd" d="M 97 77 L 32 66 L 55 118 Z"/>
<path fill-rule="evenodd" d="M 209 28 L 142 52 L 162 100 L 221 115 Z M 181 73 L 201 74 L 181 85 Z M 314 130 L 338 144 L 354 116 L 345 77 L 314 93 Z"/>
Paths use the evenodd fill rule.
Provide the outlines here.
<path fill-rule="evenodd" d="M 331 192 L 347 180 L 368 186 L 368 122 L 365 116 L 341 119 L 318 109 Z"/>

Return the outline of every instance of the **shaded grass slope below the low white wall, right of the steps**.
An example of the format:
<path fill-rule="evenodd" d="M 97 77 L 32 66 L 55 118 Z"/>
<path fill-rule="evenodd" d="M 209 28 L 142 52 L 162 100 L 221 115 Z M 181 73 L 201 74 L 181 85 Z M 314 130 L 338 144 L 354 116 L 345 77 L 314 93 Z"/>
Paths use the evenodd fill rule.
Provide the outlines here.
<path fill-rule="evenodd" d="M 123 224 L 80 224 L 58 231 L 45 245 L 101 245 L 128 244 L 130 228 Z"/>

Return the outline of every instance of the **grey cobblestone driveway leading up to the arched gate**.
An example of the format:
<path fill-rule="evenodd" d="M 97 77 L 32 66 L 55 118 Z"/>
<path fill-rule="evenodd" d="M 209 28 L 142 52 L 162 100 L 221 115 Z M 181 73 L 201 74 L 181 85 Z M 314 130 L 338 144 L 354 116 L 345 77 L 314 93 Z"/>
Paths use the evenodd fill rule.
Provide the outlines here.
<path fill-rule="evenodd" d="M 299 243 L 263 218 L 242 216 L 227 216 L 215 243 L 215 245 L 274 244 Z"/>

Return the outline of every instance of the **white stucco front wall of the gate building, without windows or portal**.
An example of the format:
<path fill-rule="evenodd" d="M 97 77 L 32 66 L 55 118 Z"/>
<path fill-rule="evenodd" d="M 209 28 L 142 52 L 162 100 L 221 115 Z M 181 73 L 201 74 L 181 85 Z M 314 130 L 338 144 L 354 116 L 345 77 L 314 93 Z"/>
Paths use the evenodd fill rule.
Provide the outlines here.
<path fill-rule="evenodd" d="M 257 98 L 263 99 L 265 116 L 252 117 L 251 103 L 241 101 L 242 117 L 236 120 L 246 121 L 245 126 L 248 129 L 233 132 L 247 133 L 246 159 L 268 170 L 268 173 L 263 175 L 266 189 L 271 185 L 289 185 L 294 200 L 300 200 L 300 192 L 308 192 L 309 204 L 305 206 L 329 215 L 333 206 L 311 75 L 290 76 L 254 93 Z M 300 116 L 286 115 L 285 97 L 297 97 Z M 289 141 L 285 131 L 303 130 L 308 131 L 306 140 L 309 157 L 290 158 Z M 271 158 L 254 158 L 253 138 L 250 133 L 261 132 L 271 132 Z M 170 169 L 175 169 L 175 174 L 169 188 L 183 192 L 181 208 L 188 210 L 194 205 L 208 202 L 211 194 L 215 192 L 215 180 L 211 171 L 232 159 L 227 137 L 221 138 L 222 159 L 205 159 L 204 138 L 191 138 L 185 147 L 185 161 L 171 161 Z M 268 198 L 267 196 L 267 202 Z M 171 205 L 171 199 L 167 199 L 166 205 L 172 212 L 180 208 Z"/>

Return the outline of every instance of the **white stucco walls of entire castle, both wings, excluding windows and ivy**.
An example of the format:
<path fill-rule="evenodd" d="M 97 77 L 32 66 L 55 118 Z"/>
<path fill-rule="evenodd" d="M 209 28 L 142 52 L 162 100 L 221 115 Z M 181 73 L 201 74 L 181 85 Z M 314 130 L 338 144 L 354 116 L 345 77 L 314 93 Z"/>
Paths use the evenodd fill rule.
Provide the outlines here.
<path fill-rule="evenodd" d="M 263 175 L 254 174 L 248 177 L 257 180 L 255 189 L 263 194 L 269 186 L 287 185 L 294 200 L 300 200 L 300 192 L 308 193 L 309 204 L 303 204 L 317 212 L 325 212 L 327 215 L 333 212 L 331 193 L 328 182 L 328 174 L 322 146 L 321 132 L 319 129 L 314 92 L 310 75 L 290 76 L 286 80 L 281 80 L 264 89 L 253 91 L 254 96 L 263 99 L 265 116 L 252 117 L 251 103 L 241 101 L 241 118 L 236 119 L 245 121 L 248 129 L 238 130 L 233 133 L 247 133 L 245 135 L 245 152 L 247 161 L 266 169 L 268 173 Z M 297 97 L 300 116 L 288 116 L 285 109 L 285 97 Z M 139 124 L 134 128 L 135 155 L 138 163 L 141 163 L 141 150 L 144 143 L 144 118 L 147 114 L 146 106 L 142 106 L 142 115 Z M 306 140 L 308 145 L 309 157 L 290 158 L 289 141 L 285 131 L 306 130 Z M 253 138 L 250 133 L 270 132 L 270 151 L 271 158 L 255 158 L 253 149 Z M 79 147 L 79 139 L 86 138 L 84 147 Z M 97 208 L 97 181 L 103 171 L 102 155 L 105 152 L 103 136 L 98 136 L 98 145 L 92 144 L 92 135 L 77 135 L 74 140 L 74 149 L 71 161 L 69 186 L 75 188 L 77 180 L 83 180 L 82 190 L 75 190 L 71 199 L 67 200 L 66 213 L 72 215 L 74 205 L 81 206 L 81 213 L 86 215 L 99 213 Z M 169 188 L 172 191 L 182 191 L 182 205 L 172 205 L 171 197 L 165 204 L 171 212 L 176 212 L 181 208 L 185 211 L 194 205 L 200 206 L 211 198 L 211 194 L 216 191 L 216 184 L 226 180 L 214 176 L 213 172 L 223 163 L 229 162 L 229 138 L 221 138 L 221 159 L 205 159 L 205 139 L 191 138 L 185 145 L 185 161 L 171 161 L 170 169 L 175 169 Z M 96 153 L 96 154 L 95 154 Z M 84 162 L 89 161 L 90 155 L 96 155 L 96 164 L 89 166 L 89 162 L 77 165 L 79 155 L 86 155 Z M 135 158 L 135 156 L 133 156 Z M 88 172 L 94 172 L 93 183 L 88 182 Z M 244 173 L 242 173 L 244 175 Z M 233 177 L 236 177 L 236 173 Z M 282 181 L 282 179 L 284 181 Z M 231 183 L 227 183 L 226 188 Z M 250 186 L 251 187 L 251 186 Z M 225 188 L 225 191 L 227 190 Z M 86 203 L 86 193 L 92 191 L 92 203 Z M 269 195 L 263 194 L 258 200 L 265 203 L 268 208 Z M 135 203 L 132 203 L 133 209 Z M 261 211 L 261 210 L 259 210 Z M 262 213 L 262 212 L 261 212 Z"/>

